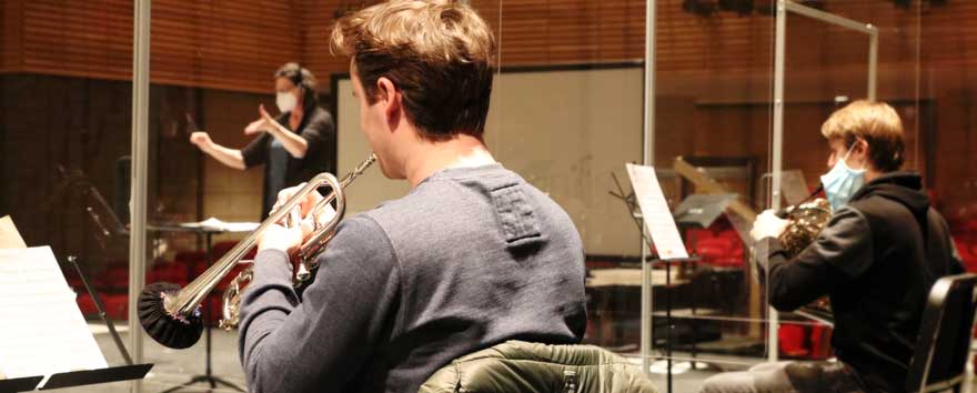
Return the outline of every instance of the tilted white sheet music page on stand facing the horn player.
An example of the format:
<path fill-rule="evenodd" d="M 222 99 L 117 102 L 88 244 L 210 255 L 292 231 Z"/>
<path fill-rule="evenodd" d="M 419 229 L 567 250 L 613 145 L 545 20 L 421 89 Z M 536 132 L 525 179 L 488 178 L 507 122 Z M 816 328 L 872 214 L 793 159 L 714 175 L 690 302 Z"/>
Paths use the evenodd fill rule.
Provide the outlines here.
<path fill-rule="evenodd" d="M 662 185 L 658 184 L 658 178 L 655 175 L 655 169 L 628 163 L 627 175 L 631 178 L 634 195 L 637 196 L 642 218 L 652 234 L 652 241 L 655 242 L 655 250 L 658 251 L 658 259 L 688 258 L 678 228 L 675 226 L 675 220 L 668 210 L 668 202 L 665 201 L 665 194 L 662 192 Z"/>

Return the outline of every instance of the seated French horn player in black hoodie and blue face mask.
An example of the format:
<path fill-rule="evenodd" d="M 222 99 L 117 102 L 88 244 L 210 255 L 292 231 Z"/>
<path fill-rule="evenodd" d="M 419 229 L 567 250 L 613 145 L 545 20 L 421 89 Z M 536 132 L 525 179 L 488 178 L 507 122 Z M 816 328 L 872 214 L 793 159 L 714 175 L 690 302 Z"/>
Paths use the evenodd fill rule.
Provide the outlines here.
<path fill-rule="evenodd" d="M 963 272 L 946 221 L 918 174 L 903 165 L 903 123 L 883 102 L 855 101 L 822 125 L 832 218 L 793 259 L 773 211 L 754 223 L 769 303 L 793 311 L 828 295 L 837 362 L 761 364 L 706 380 L 703 392 L 903 392 L 926 296 L 940 276 Z"/>

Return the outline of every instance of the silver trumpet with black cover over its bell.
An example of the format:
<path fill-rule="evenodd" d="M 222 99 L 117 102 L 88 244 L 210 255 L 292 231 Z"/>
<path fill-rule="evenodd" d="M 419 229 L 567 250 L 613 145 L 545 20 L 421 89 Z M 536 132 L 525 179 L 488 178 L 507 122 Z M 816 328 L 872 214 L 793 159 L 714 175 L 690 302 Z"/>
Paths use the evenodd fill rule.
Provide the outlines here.
<path fill-rule="evenodd" d="M 187 288 L 180 289 L 179 285 L 167 282 L 147 285 L 140 294 L 138 303 L 139 320 L 143 330 L 153 340 L 168 347 L 185 349 L 197 343 L 203 332 L 200 303 L 207 294 L 239 263 L 246 263 L 241 261 L 241 259 L 255 245 L 258 239 L 261 238 L 261 234 L 269 226 L 279 222 L 285 222 L 288 225 L 299 224 L 299 221 L 302 219 L 298 213 L 300 203 L 318 188 L 329 185 L 332 191 L 316 202 L 308 214 L 312 218 L 315 228 L 303 239 L 294 255 L 298 259 L 295 285 L 299 286 L 308 282 L 309 278 L 312 276 L 312 272 L 318 268 L 315 265 L 315 258 L 324 251 L 325 245 L 332 240 L 336 226 L 345 214 L 346 196 L 344 189 L 363 174 L 375 161 L 376 155 L 370 154 L 366 160 L 346 174 L 342 181 L 338 181 L 334 175 L 325 172 L 312 178 L 298 193 L 292 195 L 279 209 L 271 212 L 269 218 L 258 229 L 238 242 L 231 251 L 188 284 Z M 335 215 L 324 224 L 320 223 L 320 215 L 333 201 L 335 201 Z M 246 284 L 251 282 L 251 266 L 246 266 L 233 280 L 224 293 L 221 328 L 225 330 L 236 328 L 241 293 Z"/>

